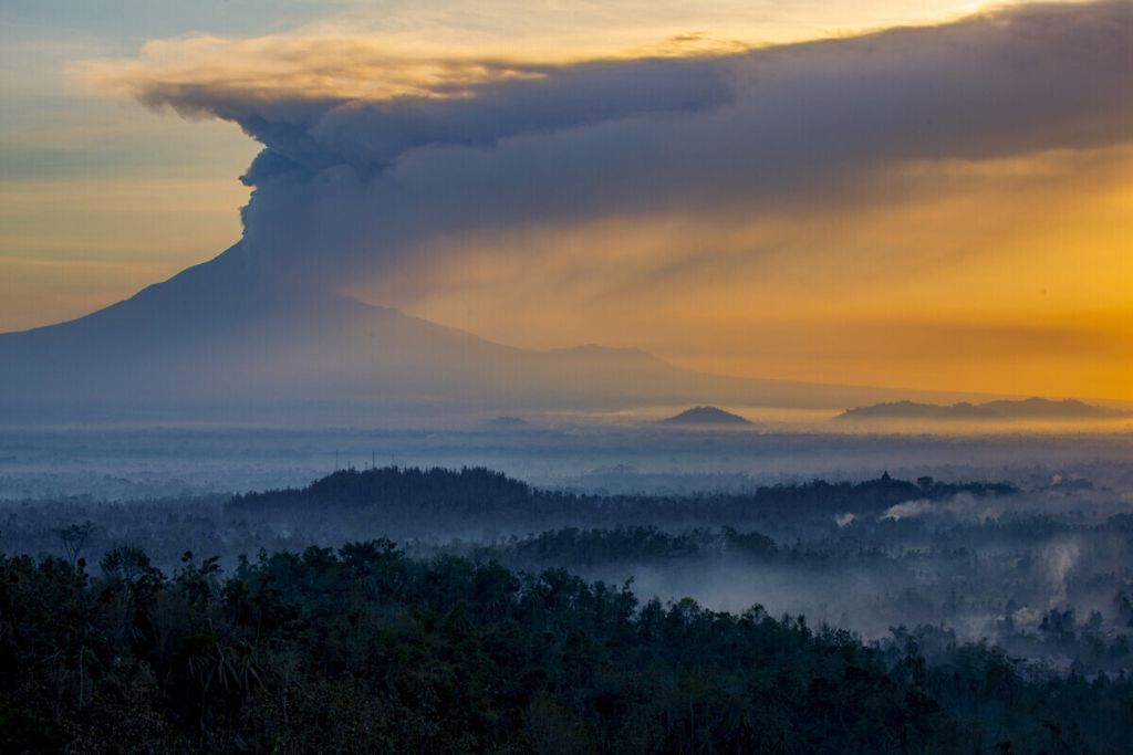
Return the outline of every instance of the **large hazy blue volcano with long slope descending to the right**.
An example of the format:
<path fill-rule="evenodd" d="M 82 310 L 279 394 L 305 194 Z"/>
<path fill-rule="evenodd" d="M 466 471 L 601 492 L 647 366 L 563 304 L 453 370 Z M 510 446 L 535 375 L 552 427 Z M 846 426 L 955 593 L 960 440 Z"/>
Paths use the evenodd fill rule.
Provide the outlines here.
<path fill-rule="evenodd" d="M 241 242 L 86 317 L 0 334 L 0 422 L 357 426 L 393 414 L 448 421 L 460 411 L 614 411 L 705 398 L 836 409 L 896 394 L 706 375 L 637 349 L 516 349 L 264 282 L 255 269 Z"/>

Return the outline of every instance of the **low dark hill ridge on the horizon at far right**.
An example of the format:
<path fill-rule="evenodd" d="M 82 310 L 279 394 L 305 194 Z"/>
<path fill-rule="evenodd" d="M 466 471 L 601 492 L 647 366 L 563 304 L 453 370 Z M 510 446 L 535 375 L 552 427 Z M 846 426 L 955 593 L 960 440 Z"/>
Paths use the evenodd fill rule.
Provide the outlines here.
<path fill-rule="evenodd" d="M 1023 401 L 989 401 L 982 404 L 960 402 L 952 405 L 922 404 L 912 401 L 881 403 L 849 409 L 836 420 L 944 420 L 994 422 L 1004 420 L 1105 420 L 1130 417 L 1107 406 L 1096 406 L 1066 398 L 1026 398 Z"/>

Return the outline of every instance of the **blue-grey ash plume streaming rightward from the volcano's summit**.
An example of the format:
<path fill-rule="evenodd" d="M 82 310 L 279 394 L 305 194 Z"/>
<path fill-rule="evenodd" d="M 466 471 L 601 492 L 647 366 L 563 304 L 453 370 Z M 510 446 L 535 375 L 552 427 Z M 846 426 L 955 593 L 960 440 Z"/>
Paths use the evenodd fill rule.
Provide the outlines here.
<path fill-rule="evenodd" d="M 204 61 L 97 77 L 261 141 L 237 254 L 259 280 L 334 290 L 485 229 L 759 213 L 902 161 L 1128 141 L 1130 20 L 1127 2 L 1026 6 L 701 57 L 438 61 L 420 80 L 369 60 L 357 93 Z M 318 71 L 334 50 L 292 54 Z"/>

